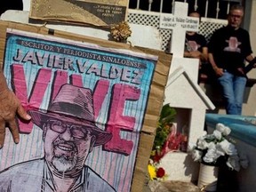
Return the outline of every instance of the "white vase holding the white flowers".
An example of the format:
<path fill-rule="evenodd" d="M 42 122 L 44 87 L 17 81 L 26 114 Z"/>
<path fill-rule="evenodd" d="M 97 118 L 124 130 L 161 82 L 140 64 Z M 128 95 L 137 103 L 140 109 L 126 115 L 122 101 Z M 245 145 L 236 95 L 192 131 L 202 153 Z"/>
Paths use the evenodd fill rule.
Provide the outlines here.
<path fill-rule="evenodd" d="M 200 164 L 200 171 L 197 186 L 204 191 L 216 191 L 219 167 Z"/>

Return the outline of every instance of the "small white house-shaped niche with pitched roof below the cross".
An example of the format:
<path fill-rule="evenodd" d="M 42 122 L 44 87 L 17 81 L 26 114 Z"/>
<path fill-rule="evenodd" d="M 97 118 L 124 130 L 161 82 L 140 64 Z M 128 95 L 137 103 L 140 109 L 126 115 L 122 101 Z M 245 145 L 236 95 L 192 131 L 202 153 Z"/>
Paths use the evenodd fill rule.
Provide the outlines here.
<path fill-rule="evenodd" d="M 179 92 L 175 92 L 176 90 Z M 172 72 L 165 92 L 164 104 L 169 103 L 172 108 L 188 109 L 188 113 L 186 113 L 188 117 L 182 116 L 180 119 L 189 121 L 188 142 L 195 143 L 198 136 L 204 133 L 205 110 L 214 109 L 211 100 L 205 95 L 201 87 L 192 81 L 184 68 L 177 68 Z M 179 122 L 177 124 L 179 126 Z"/>

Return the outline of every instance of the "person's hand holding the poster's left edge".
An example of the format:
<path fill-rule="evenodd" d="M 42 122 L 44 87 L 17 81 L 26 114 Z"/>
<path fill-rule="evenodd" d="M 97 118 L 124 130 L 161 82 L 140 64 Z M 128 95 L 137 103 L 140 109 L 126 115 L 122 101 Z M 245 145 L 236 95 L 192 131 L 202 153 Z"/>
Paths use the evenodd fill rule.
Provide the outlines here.
<path fill-rule="evenodd" d="M 19 128 L 16 123 L 16 114 L 24 120 L 30 120 L 31 116 L 27 114 L 20 104 L 20 100 L 9 89 L 0 92 L 0 148 L 4 146 L 5 125 L 10 128 L 12 138 L 17 144 L 20 141 Z"/>

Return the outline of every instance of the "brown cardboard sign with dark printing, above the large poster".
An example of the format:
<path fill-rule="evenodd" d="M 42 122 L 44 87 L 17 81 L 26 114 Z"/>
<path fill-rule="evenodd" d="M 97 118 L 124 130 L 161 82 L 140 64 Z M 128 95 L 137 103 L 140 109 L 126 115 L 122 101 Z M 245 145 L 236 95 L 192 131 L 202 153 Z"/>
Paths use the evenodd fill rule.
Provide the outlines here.
<path fill-rule="evenodd" d="M 33 0 L 29 18 L 109 26 L 126 20 L 128 0 Z"/>

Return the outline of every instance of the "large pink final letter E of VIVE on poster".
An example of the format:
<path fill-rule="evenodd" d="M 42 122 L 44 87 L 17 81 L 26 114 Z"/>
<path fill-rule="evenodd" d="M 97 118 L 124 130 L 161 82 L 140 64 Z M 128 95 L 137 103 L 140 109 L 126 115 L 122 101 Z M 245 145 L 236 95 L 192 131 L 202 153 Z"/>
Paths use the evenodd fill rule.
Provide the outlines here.
<path fill-rule="evenodd" d="M 115 84 L 113 86 L 111 104 L 108 114 L 107 131 L 113 134 L 112 139 L 104 146 L 105 150 L 122 153 L 125 156 L 131 154 L 132 140 L 124 140 L 120 137 L 121 131 L 132 132 L 135 117 L 124 116 L 125 100 L 139 100 L 140 89 L 127 85 Z"/>

